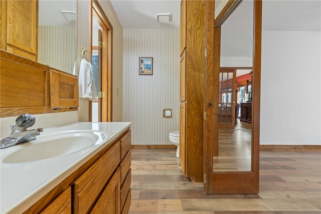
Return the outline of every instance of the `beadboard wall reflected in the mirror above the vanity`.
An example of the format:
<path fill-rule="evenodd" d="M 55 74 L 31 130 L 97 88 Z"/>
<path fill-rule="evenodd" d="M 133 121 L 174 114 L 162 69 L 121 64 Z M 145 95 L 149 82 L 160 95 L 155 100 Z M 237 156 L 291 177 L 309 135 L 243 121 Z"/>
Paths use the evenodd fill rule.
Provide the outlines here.
<path fill-rule="evenodd" d="M 76 59 L 76 28 L 39 26 L 38 34 L 38 62 L 72 74 Z"/>

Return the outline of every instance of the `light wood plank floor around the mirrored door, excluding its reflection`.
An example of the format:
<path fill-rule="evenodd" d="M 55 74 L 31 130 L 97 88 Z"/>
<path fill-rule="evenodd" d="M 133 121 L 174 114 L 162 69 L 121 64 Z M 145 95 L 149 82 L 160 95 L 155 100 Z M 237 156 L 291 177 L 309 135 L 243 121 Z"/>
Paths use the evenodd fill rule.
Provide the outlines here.
<path fill-rule="evenodd" d="M 261 150 L 259 194 L 206 195 L 176 149 L 132 149 L 129 214 L 321 213 L 321 153 Z"/>

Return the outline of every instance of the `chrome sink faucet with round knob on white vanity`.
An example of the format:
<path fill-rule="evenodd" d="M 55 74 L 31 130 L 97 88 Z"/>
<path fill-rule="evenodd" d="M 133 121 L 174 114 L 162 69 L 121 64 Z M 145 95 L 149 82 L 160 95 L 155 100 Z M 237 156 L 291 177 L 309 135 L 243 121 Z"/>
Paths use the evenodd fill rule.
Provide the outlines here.
<path fill-rule="evenodd" d="M 35 121 L 35 116 L 31 114 L 22 114 L 17 117 L 16 124 L 10 125 L 12 130 L 10 136 L 1 139 L 0 149 L 36 139 L 36 135 L 44 130 L 43 128 L 27 130 L 35 124 Z"/>

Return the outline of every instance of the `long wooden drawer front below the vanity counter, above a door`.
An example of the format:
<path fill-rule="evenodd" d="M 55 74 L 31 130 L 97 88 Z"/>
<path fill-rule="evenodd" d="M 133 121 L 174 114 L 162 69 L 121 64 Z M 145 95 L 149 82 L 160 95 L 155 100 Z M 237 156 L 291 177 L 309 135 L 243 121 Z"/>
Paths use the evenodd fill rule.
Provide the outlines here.
<path fill-rule="evenodd" d="M 119 164 L 119 150 L 118 141 L 74 182 L 75 213 L 88 213 Z"/>

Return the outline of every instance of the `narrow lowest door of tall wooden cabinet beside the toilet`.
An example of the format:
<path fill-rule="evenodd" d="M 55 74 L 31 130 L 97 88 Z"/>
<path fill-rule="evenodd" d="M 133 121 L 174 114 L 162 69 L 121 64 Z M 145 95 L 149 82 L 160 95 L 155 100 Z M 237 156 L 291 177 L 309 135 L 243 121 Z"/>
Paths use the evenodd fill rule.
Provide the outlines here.
<path fill-rule="evenodd" d="M 180 103 L 180 167 L 186 174 L 186 102 Z"/>

